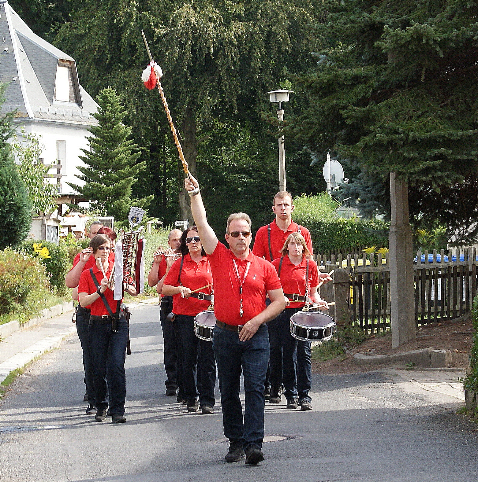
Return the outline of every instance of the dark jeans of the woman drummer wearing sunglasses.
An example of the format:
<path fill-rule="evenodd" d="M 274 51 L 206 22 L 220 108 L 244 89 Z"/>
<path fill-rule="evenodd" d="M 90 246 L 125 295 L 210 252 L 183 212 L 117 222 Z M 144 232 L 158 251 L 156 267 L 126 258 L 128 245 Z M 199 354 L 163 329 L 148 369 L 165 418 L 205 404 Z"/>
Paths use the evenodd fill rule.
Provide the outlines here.
<path fill-rule="evenodd" d="M 201 405 L 214 406 L 216 361 L 210 341 L 199 340 L 194 333 L 194 316 L 177 315 L 177 328 L 183 356 L 184 397 L 194 400 L 199 395 Z"/>

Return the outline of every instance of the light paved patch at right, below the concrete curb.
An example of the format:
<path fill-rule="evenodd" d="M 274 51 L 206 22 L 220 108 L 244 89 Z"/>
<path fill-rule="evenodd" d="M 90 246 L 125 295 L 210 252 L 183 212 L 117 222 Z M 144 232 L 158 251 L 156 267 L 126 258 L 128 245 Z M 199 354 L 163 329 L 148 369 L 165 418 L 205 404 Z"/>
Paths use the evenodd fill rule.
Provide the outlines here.
<path fill-rule="evenodd" d="M 460 379 L 466 374 L 458 368 L 441 368 L 437 370 L 396 370 L 390 368 L 389 373 L 423 388 L 424 390 L 450 395 L 464 402 L 464 388 Z"/>

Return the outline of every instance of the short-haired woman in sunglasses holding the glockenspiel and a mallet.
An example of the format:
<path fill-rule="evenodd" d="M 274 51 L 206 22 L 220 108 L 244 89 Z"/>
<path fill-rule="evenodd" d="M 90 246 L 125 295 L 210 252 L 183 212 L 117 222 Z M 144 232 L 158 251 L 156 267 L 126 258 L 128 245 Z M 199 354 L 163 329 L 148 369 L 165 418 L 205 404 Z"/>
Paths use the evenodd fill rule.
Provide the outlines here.
<path fill-rule="evenodd" d="M 126 422 L 124 417 L 125 358 L 128 325 L 125 315 L 119 310 L 123 300 L 114 300 L 113 292 L 108 287 L 108 280 L 114 266 L 114 257 L 112 259 L 109 256 L 112 241 L 108 236 L 98 234 L 91 240 L 90 248 L 96 264 L 81 274 L 78 295 L 80 305 L 83 308 L 91 308 L 88 335 L 93 355 L 93 382 L 97 408 L 95 420 L 97 422 L 105 420 L 109 405 L 112 423 L 123 423 Z M 130 295 L 136 296 L 134 286 L 125 283 L 123 289 Z M 113 317 L 117 316 L 119 316 L 119 320 L 113 323 Z M 111 372 L 109 385 L 106 382 L 108 361 L 108 370 Z"/>

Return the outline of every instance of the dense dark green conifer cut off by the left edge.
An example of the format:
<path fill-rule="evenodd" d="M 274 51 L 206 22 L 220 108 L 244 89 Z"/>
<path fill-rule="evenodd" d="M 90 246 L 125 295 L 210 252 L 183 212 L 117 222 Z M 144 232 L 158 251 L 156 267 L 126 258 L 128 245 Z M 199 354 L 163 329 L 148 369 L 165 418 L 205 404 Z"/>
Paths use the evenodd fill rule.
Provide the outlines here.
<path fill-rule="evenodd" d="M 0 85 L 0 107 L 4 85 Z M 0 119 L 0 249 L 23 241 L 31 226 L 31 206 L 16 169 L 8 139 L 13 135 L 12 115 Z"/>

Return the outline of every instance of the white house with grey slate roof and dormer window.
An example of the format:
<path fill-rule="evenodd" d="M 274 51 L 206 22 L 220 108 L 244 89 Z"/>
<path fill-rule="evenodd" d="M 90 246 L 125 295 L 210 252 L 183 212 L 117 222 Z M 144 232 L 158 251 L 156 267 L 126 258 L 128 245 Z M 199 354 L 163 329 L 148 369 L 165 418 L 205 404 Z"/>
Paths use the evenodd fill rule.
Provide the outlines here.
<path fill-rule="evenodd" d="M 34 34 L 6 0 L 0 0 L 0 81 L 8 84 L 1 112 L 15 111 L 18 132 L 41 135 L 58 204 L 82 201 L 67 183 L 82 184 L 75 177 L 83 165 L 78 156 L 87 148 L 88 127 L 98 124 L 92 116 L 98 105 L 80 85 L 75 59 Z"/>

